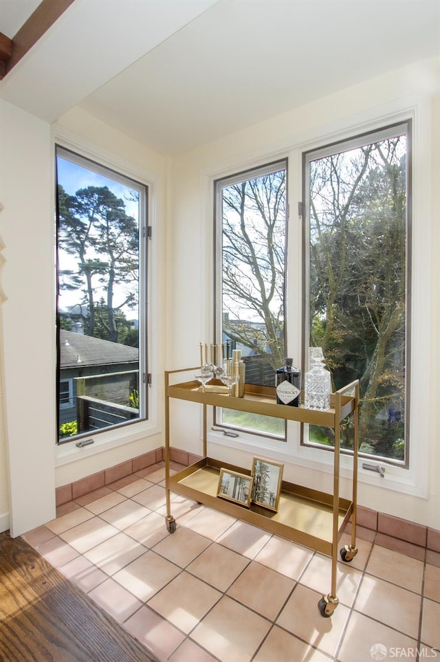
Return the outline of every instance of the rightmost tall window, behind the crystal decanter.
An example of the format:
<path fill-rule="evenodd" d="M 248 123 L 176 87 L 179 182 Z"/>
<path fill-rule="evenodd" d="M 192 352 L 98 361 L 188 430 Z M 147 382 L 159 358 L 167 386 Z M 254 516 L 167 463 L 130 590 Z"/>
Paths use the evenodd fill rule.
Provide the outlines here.
<path fill-rule="evenodd" d="M 360 379 L 360 452 L 408 465 L 410 124 L 305 154 L 307 346 Z M 307 357 L 307 351 L 305 353 Z M 305 442 L 332 445 L 312 426 Z M 342 448 L 351 448 L 350 426 Z"/>

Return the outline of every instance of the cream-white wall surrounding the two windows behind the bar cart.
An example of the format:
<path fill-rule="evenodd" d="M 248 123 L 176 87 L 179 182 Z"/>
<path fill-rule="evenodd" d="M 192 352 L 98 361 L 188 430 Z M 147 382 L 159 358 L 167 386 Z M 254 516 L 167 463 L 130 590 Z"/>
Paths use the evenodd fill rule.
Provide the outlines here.
<path fill-rule="evenodd" d="M 414 107 L 417 191 L 413 223 L 423 223 L 428 232 L 423 236 L 419 231 L 419 234 L 415 232 L 417 236 L 414 243 L 417 257 L 413 278 L 420 296 L 413 301 L 417 313 L 417 320 L 414 321 L 417 324 L 412 331 L 418 343 L 412 356 L 413 384 L 417 384 L 412 393 L 413 468 L 411 472 L 404 472 L 388 467 L 382 483 L 378 474 L 376 478 L 371 472 L 365 472 L 366 475 L 360 479 L 359 503 L 437 529 L 440 528 L 440 461 L 439 433 L 434 412 L 440 393 L 434 366 L 439 366 L 436 338 L 439 328 L 439 288 L 431 288 L 430 283 L 439 282 L 439 260 L 436 254 L 436 247 L 439 246 L 438 90 L 439 61 L 419 63 L 340 91 L 307 107 L 250 126 L 245 131 L 177 157 L 173 162 L 170 192 L 170 223 L 173 227 L 173 234 L 169 237 L 170 261 L 173 264 L 170 291 L 173 295 L 167 302 L 168 319 L 173 320 L 170 325 L 168 364 L 170 367 L 196 365 L 199 342 L 212 338 L 213 179 L 285 155 L 299 162 L 303 148 L 327 144 L 331 142 L 330 139 L 334 140 L 347 131 L 358 133 L 360 127 L 366 130 L 370 126 L 377 126 L 377 123 L 386 124 L 401 109 Z M 293 184 L 298 189 L 291 197 L 291 202 L 295 204 L 296 199 L 300 199 L 296 198 L 296 194 L 300 195 L 300 183 L 294 181 Z M 294 331 L 296 333 L 297 330 Z M 175 402 L 172 412 L 172 445 L 200 453 L 201 426 L 194 406 L 190 409 L 186 404 Z M 415 421 L 418 421 L 417 425 Z M 250 467 L 252 449 L 249 446 L 242 446 L 236 452 L 215 434 L 211 433 L 209 438 L 208 454 Z M 322 465 L 318 471 L 309 459 L 302 462 L 298 465 L 293 461 L 285 464 L 287 480 L 331 490 L 332 477 L 328 466 Z M 350 468 L 347 465 L 343 475 L 349 474 Z M 347 496 L 350 485 L 348 479 L 342 481 L 342 493 Z"/>

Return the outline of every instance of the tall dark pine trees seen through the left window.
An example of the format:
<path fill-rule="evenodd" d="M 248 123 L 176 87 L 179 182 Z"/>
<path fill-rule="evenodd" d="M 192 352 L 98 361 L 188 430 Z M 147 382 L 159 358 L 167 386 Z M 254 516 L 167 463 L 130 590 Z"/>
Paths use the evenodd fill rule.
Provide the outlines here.
<path fill-rule="evenodd" d="M 103 301 L 106 308 L 107 339 L 119 342 L 117 314 L 137 305 L 138 281 L 137 223 L 126 214 L 124 201 L 107 186 L 88 186 L 74 196 L 58 186 L 58 251 L 77 260 L 76 270 L 58 272 L 60 287 L 82 288 L 89 335 L 96 336 L 96 297 L 100 296 L 100 310 Z M 118 305 L 116 287 L 125 292 Z"/>

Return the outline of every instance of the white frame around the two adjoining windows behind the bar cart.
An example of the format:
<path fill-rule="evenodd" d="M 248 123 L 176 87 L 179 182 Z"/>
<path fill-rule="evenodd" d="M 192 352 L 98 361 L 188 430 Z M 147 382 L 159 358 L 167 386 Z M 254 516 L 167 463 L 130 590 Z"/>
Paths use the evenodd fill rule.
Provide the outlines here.
<path fill-rule="evenodd" d="M 303 352 L 303 301 L 302 283 L 302 229 L 297 216 L 296 204 L 303 194 L 303 152 L 318 149 L 331 142 L 349 140 L 355 135 L 379 131 L 384 126 L 412 120 L 412 255 L 411 255 L 411 285 L 412 298 L 408 320 L 411 327 L 410 351 L 410 426 L 408 430 L 410 465 L 408 468 L 381 461 L 386 467 L 382 478 L 379 473 L 362 469 L 362 459 L 358 467 L 359 483 L 385 487 L 402 494 L 427 498 L 428 496 L 428 383 L 430 346 L 430 208 L 429 208 L 429 177 L 430 177 L 430 126 L 431 113 L 429 100 L 411 98 L 387 104 L 386 107 L 365 111 L 362 115 L 350 120 L 340 120 L 327 130 L 316 130 L 303 137 L 303 140 L 291 145 L 283 151 L 277 150 L 264 156 L 252 157 L 248 162 L 241 162 L 240 168 L 230 163 L 228 169 L 223 164 L 222 169 L 207 170 L 206 208 L 208 196 L 212 199 L 213 183 L 216 179 L 226 178 L 228 174 L 238 170 L 247 170 L 287 158 L 289 163 L 287 191 L 289 199 L 289 230 L 287 255 L 287 292 L 286 292 L 286 327 L 287 351 L 289 355 L 301 357 Z M 212 203 L 211 203 L 212 204 Z M 212 219 L 212 227 L 213 227 Z M 204 293 L 206 296 L 206 293 Z M 416 351 L 417 348 L 417 351 Z M 219 447 L 218 452 L 224 454 L 221 447 L 239 448 L 248 454 L 264 454 L 271 458 L 302 467 L 311 476 L 316 471 L 320 474 L 333 474 L 333 454 L 328 450 L 315 446 L 301 445 L 300 425 L 294 421 L 287 423 L 287 443 L 275 442 L 254 434 L 239 432 L 239 437 L 232 441 L 221 432 L 209 430 L 208 442 Z M 216 452 L 216 451 L 212 451 Z M 341 478 L 350 479 L 353 473 L 352 456 L 342 455 L 340 462 Z"/>

